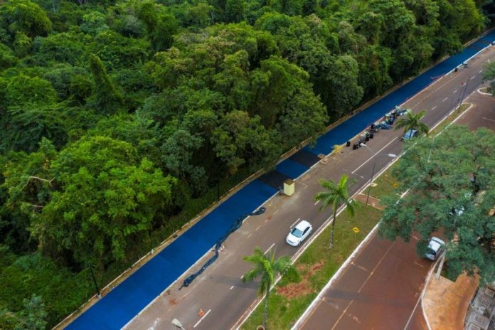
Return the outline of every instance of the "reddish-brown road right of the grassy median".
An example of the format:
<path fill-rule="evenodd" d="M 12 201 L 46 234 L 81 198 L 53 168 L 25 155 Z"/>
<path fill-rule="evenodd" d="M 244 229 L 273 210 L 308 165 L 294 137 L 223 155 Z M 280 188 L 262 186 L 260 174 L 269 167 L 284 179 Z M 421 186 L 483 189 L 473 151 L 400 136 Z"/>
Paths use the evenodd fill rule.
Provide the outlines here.
<path fill-rule="evenodd" d="M 495 131 L 494 97 L 475 91 L 466 102 L 472 108 L 455 123 Z M 417 238 L 404 243 L 373 237 L 298 329 L 426 330 L 420 294 L 432 263 L 417 257 L 415 243 Z"/>

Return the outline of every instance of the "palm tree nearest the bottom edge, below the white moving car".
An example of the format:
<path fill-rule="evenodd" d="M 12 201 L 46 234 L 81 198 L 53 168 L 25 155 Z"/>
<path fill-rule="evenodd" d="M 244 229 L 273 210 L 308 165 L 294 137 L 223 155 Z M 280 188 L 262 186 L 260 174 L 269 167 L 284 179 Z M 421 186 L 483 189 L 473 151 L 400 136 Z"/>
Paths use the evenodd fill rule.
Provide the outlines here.
<path fill-rule="evenodd" d="M 260 284 L 257 287 L 257 294 L 262 297 L 265 295 L 265 318 L 263 319 L 263 326 L 267 327 L 268 317 L 268 297 L 270 296 L 270 287 L 275 282 L 277 275 L 299 275 L 297 269 L 291 265 L 290 257 L 283 256 L 275 260 L 275 250 L 270 252 L 267 256 L 262 252 L 260 248 L 255 248 L 252 255 L 243 257 L 244 261 L 252 263 L 254 266 L 252 270 L 245 273 L 243 276 L 243 282 L 252 282 L 257 277 L 261 276 Z M 292 277 L 294 278 L 294 277 Z"/>

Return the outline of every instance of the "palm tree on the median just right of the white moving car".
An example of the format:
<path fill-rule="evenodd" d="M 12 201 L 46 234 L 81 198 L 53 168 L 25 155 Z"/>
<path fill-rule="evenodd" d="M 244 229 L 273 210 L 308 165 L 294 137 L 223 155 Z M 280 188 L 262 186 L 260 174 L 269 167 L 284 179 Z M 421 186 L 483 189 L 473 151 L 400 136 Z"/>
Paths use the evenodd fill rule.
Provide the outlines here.
<path fill-rule="evenodd" d="M 344 203 L 347 206 L 347 213 L 351 216 L 354 216 L 354 211 L 356 209 L 356 204 L 353 203 L 353 200 L 349 198 L 347 192 L 347 181 L 348 176 L 343 175 L 339 183 L 335 183 L 334 181 L 326 181 L 324 179 L 319 179 L 319 184 L 322 188 L 325 188 L 326 191 L 321 191 L 314 195 L 315 201 L 321 201 L 320 211 L 324 211 L 329 205 L 331 205 L 332 210 L 334 211 L 334 222 L 331 224 L 331 234 L 330 234 L 330 247 L 334 247 L 334 230 L 335 230 L 335 222 L 337 220 L 337 209 L 341 203 Z"/>

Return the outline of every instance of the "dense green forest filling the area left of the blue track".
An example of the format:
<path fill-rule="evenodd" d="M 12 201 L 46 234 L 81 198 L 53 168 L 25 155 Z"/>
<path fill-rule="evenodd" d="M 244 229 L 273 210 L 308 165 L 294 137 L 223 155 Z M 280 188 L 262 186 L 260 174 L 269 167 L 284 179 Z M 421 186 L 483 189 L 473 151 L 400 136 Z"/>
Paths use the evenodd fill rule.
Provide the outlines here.
<path fill-rule="evenodd" d="M 494 1 L 0 4 L 0 329 L 53 326 L 221 191 L 489 26 Z"/>

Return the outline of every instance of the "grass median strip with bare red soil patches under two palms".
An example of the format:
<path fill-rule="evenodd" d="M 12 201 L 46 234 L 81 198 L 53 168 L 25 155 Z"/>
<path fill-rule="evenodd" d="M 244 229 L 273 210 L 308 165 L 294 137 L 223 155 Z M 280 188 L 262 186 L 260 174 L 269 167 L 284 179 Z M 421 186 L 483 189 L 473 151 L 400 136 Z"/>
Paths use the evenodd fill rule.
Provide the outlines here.
<path fill-rule="evenodd" d="M 282 279 L 272 290 L 268 329 L 290 329 L 316 294 L 378 223 L 381 211 L 361 203 L 360 206 L 354 218 L 345 211 L 337 217 L 333 249 L 329 250 L 329 227 L 299 257 L 295 263 L 302 275 L 299 283 L 288 283 L 287 280 Z M 359 233 L 353 232 L 354 227 L 359 229 Z M 264 304 L 260 304 L 241 329 L 252 330 L 262 324 L 263 308 Z"/>

